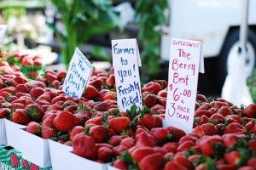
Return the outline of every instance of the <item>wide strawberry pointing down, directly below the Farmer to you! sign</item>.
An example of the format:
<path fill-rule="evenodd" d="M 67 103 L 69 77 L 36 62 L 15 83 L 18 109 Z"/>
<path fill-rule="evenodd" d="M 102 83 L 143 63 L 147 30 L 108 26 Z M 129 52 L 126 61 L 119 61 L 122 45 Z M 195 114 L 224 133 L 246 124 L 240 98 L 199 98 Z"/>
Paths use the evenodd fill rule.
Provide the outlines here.
<path fill-rule="evenodd" d="M 108 121 L 109 127 L 111 127 L 115 132 L 121 133 L 126 128 L 130 126 L 130 120 L 126 116 L 114 117 Z"/>

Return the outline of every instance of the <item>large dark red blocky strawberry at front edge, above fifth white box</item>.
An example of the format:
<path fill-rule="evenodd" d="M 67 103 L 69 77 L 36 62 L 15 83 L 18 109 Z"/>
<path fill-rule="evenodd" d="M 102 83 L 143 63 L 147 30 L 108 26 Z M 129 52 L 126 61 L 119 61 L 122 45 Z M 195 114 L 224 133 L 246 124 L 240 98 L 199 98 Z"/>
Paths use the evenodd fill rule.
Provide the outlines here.
<path fill-rule="evenodd" d="M 78 134 L 73 139 L 73 153 L 90 160 L 95 160 L 97 156 L 95 139 L 84 134 Z"/>

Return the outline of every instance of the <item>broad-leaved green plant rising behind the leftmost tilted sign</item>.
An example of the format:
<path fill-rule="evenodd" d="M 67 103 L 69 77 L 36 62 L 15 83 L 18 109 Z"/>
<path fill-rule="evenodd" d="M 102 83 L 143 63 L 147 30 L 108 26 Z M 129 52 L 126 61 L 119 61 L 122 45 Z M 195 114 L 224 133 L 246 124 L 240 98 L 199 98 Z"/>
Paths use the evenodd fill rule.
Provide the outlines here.
<path fill-rule="evenodd" d="M 111 0 L 51 0 L 61 14 L 63 33 L 55 26 L 62 42 L 61 53 L 66 65 L 73 56 L 74 49 L 90 38 L 113 30 L 119 26 L 119 14 L 113 11 Z"/>

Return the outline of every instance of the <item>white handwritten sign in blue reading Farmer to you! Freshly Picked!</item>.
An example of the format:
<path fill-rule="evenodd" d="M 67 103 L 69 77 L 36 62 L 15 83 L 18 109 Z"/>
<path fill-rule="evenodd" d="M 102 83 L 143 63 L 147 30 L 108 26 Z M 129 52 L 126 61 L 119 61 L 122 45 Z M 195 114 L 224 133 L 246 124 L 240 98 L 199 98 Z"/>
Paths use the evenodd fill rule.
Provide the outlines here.
<path fill-rule="evenodd" d="M 141 60 L 137 40 L 112 40 L 112 55 L 119 110 L 130 110 L 131 105 L 142 108 L 141 82 L 138 70 Z"/>

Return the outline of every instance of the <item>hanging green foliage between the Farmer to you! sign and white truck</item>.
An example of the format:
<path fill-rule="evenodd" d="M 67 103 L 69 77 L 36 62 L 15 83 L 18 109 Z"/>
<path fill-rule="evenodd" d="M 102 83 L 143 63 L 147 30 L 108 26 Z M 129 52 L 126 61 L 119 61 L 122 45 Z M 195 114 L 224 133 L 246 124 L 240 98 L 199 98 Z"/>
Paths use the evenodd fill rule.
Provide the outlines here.
<path fill-rule="evenodd" d="M 143 71 L 146 74 L 156 74 L 160 70 L 160 31 L 155 31 L 156 26 L 164 25 L 168 8 L 167 0 L 138 0 L 136 5 L 139 20 L 138 38 L 143 42 Z M 147 75 L 144 75 L 147 76 Z"/>

